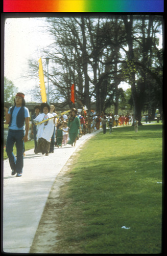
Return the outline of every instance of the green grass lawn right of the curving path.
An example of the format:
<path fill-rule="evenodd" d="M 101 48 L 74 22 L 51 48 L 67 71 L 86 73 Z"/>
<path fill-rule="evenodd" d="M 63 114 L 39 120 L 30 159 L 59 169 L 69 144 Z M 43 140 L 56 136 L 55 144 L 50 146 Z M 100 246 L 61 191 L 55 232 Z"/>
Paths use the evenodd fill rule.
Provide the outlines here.
<path fill-rule="evenodd" d="M 99 133 L 70 159 L 52 188 L 30 252 L 161 252 L 162 125 L 138 130 Z M 37 250 L 41 238 L 43 249 Z"/>

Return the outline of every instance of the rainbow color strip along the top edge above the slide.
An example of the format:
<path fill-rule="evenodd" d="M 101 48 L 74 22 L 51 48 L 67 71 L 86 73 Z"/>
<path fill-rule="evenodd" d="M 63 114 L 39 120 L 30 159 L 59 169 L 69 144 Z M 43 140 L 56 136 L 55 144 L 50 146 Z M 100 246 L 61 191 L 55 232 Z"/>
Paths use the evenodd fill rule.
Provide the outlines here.
<path fill-rule="evenodd" d="M 4 0 L 4 12 L 163 12 L 163 0 Z"/>

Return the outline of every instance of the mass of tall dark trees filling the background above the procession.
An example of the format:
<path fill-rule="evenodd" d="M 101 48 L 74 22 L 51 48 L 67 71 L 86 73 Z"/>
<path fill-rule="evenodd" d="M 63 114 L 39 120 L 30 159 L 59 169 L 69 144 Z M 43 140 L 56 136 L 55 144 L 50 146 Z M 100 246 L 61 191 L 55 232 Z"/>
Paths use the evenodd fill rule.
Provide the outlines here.
<path fill-rule="evenodd" d="M 70 87 L 75 84 L 78 106 L 96 102 L 96 111 L 114 105 L 118 113 L 123 96 L 119 87 L 131 87 L 134 115 L 141 120 L 145 109 L 162 111 L 162 16 L 107 15 L 46 18 L 46 32 L 54 38 L 43 55 L 51 58 L 50 101 L 70 102 Z M 30 61 L 32 75 L 37 60 Z M 45 74 L 46 75 L 46 74 Z"/>

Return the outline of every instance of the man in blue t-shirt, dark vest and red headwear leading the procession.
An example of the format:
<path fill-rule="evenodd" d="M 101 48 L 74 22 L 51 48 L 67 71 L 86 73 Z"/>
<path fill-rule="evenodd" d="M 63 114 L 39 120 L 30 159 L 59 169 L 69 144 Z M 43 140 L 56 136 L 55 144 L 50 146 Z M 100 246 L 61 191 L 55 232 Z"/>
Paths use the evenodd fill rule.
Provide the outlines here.
<path fill-rule="evenodd" d="M 24 142 L 28 141 L 29 133 L 30 114 L 25 104 L 25 94 L 17 93 L 14 99 L 14 106 L 11 106 L 9 110 L 5 108 L 6 123 L 9 124 L 6 152 L 9 157 L 9 164 L 12 169 L 12 175 L 17 173 L 17 177 L 22 176 L 23 147 Z M 14 143 L 16 143 L 17 158 L 13 154 Z"/>

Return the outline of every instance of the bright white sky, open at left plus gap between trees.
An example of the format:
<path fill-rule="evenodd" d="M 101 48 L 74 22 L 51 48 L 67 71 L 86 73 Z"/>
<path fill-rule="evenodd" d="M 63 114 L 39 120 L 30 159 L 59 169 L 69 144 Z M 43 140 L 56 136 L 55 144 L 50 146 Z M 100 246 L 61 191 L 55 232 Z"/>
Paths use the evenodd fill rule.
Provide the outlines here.
<path fill-rule="evenodd" d="M 39 60 L 42 49 L 52 44 L 53 39 L 45 33 L 44 18 L 7 18 L 5 20 L 5 77 L 14 86 L 25 93 L 26 102 L 31 101 L 29 90 L 39 85 L 39 79 L 27 80 L 23 76 L 28 73 L 28 59 Z M 44 68 L 43 59 L 43 68 Z M 120 86 L 126 90 L 129 85 L 122 82 Z"/>

